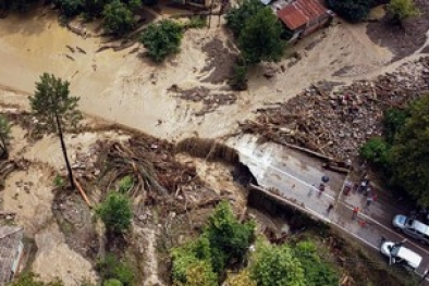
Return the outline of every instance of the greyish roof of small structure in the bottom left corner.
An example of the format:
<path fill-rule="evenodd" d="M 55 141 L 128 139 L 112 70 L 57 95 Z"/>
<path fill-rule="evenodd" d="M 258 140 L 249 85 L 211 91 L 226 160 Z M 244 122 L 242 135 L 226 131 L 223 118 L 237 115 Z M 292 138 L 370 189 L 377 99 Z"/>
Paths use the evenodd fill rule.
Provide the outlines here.
<path fill-rule="evenodd" d="M 23 227 L 0 226 L 0 286 L 5 286 L 19 271 L 24 250 L 23 236 Z"/>

